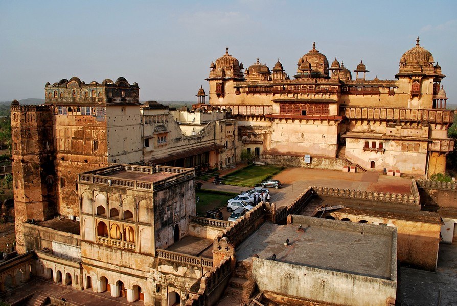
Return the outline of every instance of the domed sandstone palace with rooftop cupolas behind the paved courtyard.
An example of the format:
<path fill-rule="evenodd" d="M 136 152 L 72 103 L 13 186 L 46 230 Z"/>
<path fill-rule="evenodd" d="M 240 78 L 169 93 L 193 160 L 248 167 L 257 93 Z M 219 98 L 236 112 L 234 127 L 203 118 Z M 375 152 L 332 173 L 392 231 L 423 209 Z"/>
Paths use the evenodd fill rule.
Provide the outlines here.
<path fill-rule="evenodd" d="M 297 66 L 293 78 L 279 60 L 271 70 L 259 59 L 244 69 L 228 48 L 211 63 L 210 104 L 239 119 L 243 148 L 296 166 L 444 173 L 453 111 L 440 86 L 445 75 L 419 38 L 400 57 L 396 80 L 367 79 L 362 61 L 353 79 L 315 43 Z"/>

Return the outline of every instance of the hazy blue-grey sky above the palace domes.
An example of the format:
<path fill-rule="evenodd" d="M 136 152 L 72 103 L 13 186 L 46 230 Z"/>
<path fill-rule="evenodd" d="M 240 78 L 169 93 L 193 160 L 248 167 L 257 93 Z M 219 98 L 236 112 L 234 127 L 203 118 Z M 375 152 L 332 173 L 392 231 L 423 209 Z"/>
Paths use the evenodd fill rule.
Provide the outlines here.
<path fill-rule="evenodd" d="M 289 75 L 312 48 L 368 79 L 394 79 L 420 44 L 457 103 L 457 1 L 10 1 L 0 0 L 0 101 L 44 98 L 44 84 L 125 77 L 141 100 L 194 101 L 212 61 L 257 57 Z M 353 73 L 355 77 L 355 73 Z"/>

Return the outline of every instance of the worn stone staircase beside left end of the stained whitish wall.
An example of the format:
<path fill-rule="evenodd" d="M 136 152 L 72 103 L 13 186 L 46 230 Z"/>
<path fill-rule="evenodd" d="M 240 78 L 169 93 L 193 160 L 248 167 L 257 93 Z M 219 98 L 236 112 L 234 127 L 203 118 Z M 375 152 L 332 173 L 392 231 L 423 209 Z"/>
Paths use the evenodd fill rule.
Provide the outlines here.
<path fill-rule="evenodd" d="M 233 299 L 239 299 L 242 304 L 248 303 L 254 293 L 256 283 L 252 278 L 252 263 L 247 261 L 237 262 L 235 273 L 228 282 L 225 296 L 229 295 Z"/>

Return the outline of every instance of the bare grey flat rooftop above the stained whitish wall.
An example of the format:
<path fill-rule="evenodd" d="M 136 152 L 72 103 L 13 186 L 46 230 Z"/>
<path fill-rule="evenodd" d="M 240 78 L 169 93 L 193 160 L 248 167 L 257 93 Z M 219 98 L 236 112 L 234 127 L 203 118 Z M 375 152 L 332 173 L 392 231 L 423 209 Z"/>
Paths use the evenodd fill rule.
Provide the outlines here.
<path fill-rule="evenodd" d="M 391 279 L 391 235 L 376 234 L 373 225 L 368 225 L 372 227 L 368 229 L 363 227 L 367 224 L 341 224 L 338 229 L 343 221 L 322 221 L 321 225 L 311 224 L 309 227 L 309 224 L 302 223 L 304 231 L 298 231 L 297 223 L 276 225 L 266 222 L 237 248 L 237 260 L 251 260 L 254 254 L 271 259 L 276 254 L 276 261 L 280 262 Z M 338 222 L 333 223 L 338 226 L 324 225 L 328 222 Z M 284 245 L 287 239 L 289 246 Z"/>

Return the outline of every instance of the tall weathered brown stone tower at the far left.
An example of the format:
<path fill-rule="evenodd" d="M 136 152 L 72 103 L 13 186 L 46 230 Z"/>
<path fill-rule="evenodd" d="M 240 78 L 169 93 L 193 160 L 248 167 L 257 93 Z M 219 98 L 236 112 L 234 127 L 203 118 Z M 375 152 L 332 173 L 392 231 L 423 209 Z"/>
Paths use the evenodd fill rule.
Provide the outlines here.
<path fill-rule="evenodd" d="M 52 113 L 48 106 L 11 104 L 14 210 L 17 250 L 24 249 L 22 223 L 55 215 Z"/>

